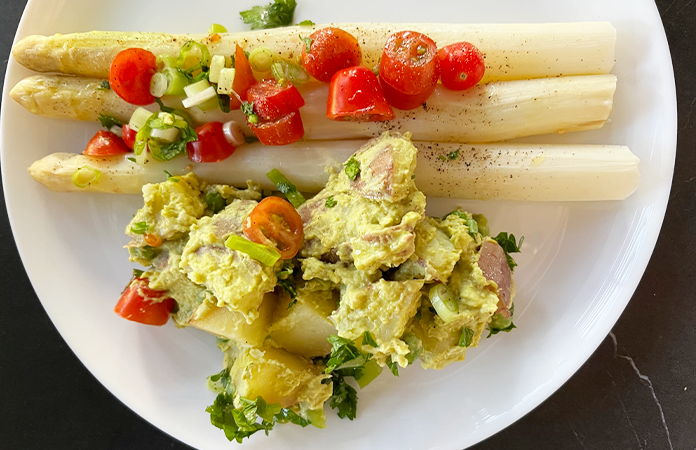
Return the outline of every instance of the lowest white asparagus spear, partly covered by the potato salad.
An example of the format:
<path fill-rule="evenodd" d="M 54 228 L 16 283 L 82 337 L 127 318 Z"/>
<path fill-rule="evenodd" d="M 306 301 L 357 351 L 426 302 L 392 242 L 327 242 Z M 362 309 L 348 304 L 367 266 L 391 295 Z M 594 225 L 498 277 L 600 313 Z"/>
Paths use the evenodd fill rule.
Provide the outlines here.
<path fill-rule="evenodd" d="M 418 148 L 416 184 L 428 196 L 476 200 L 582 201 L 621 200 L 640 181 L 638 158 L 624 146 L 444 144 L 413 142 Z M 275 186 L 266 173 L 277 168 L 305 192 L 318 192 L 328 180 L 325 168 L 342 162 L 363 141 L 314 141 L 284 147 L 242 146 L 227 160 L 193 164 L 179 157 L 140 166 L 123 156 L 89 157 L 55 153 L 36 161 L 29 172 L 49 189 L 62 192 L 140 193 L 146 183 L 166 179 L 165 170 L 181 175 L 193 170 L 212 183 L 244 186 L 254 180 Z M 75 171 L 84 166 L 100 179 L 78 188 Z"/>

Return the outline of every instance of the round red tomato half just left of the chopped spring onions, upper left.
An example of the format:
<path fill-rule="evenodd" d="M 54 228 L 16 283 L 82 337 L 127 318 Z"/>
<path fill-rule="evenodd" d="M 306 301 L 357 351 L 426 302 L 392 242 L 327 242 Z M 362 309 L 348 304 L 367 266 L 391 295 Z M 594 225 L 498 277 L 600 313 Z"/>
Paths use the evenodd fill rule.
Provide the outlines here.
<path fill-rule="evenodd" d="M 114 58 L 109 70 L 109 85 L 123 100 L 133 105 L 149 105 L 150 81 L 157 70 L 155 55 L 142 48 L 127 48 Z"/>

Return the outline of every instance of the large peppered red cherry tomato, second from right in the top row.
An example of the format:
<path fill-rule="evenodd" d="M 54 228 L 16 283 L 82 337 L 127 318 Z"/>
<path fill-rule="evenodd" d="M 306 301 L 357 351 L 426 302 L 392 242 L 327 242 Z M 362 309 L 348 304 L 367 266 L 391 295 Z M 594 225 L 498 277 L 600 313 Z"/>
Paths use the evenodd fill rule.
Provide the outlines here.
<path fill-rule="evenodd" d="M 435 42 L 415 31 L 392 34 L 384 44 L 379 76 L 397 91 L 408 95 L 434 89 L 440 76 Z"/>

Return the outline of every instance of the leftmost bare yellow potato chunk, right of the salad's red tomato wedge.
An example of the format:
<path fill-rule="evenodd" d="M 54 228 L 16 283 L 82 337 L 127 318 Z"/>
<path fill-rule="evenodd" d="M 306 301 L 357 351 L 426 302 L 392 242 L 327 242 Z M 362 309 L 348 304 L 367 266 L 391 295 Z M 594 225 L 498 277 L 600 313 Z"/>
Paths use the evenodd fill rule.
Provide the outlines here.
<path fill-rule="evenodd" d="M 230 339 L 239 347 L 260 347 L 268 335 L 276 303 L 275 294 L 266 294 L 259 307 L 259 315 L 251 324 L 247 323 L 246 317 L 239 311 L 204 303 L 193 313 L 189 325 Z"/>

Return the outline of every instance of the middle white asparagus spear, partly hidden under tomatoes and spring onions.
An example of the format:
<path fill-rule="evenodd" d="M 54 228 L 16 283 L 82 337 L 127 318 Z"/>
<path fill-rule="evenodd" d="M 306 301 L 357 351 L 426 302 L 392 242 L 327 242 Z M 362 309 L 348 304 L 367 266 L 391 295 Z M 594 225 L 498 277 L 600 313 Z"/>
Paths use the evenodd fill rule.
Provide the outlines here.
<path fill-rule="evenodd" d="M 10 96 L 35 114 L 97 120 L 103 113 L 127 122 L 135 106 L 112 91 L 99 90 L 100 85 L 97 79 L 37 75 L 18 83 Z M 410 131 L 421 141 L 493 142 L 601 128 L 615 89 L 616 76 L 611 74 L 502 81 L 460 92 L 438 86 L 426 106 L 396 110 L 396 119 L 388 122 L 365 123 L 327 119 L 328 87 L 311 83 L 300 89 L 306 102 L 300 112 L 307 140 L 367 138 L 394 130 Z M 166 103 L 172 101 L 178 100 Z M 244 123 L 241 111 L 190 112 L 199 122 Z"/>

